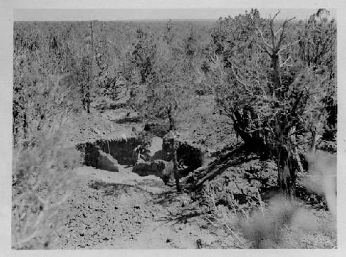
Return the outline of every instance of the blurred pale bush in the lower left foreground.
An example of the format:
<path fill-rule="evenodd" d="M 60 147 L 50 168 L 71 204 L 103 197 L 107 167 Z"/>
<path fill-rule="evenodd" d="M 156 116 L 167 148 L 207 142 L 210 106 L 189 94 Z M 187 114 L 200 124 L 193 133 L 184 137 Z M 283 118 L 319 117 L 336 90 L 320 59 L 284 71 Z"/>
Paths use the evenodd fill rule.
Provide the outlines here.
<path fill-rule="evenodd" d="M 12 247 L 42 249 L 62 236 L 57 213 L 75 181 L 69 169 L 80 165 L 77 150 L 62 148 L 61 134 L 41 134 L 37 145 L 18 153 L 13 163 Z"/>

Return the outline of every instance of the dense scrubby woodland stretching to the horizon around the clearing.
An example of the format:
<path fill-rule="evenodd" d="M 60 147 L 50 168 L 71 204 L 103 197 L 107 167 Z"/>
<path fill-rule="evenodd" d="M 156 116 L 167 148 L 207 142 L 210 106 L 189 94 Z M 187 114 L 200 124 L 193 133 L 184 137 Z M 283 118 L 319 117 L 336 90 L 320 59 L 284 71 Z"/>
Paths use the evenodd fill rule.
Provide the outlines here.
<path fill-rule="evenodd" d="M 39 209 L 60 203 L 69 186 L 60 171 L 80 165 L 75 149 L 47 149 L 71 116 L 98 112 L 122 90 L 140 122 L 174 133 L 205 123 L 210 101 L 234 144 L 275 161 L 286 195 L 296 195 L 317 149 L 336 151 L 336 21 L 327 10 L 304 21 L 255 9 L 216 22 L 17 21 L 13 37 L 14 197 L 29 201 L 42 180 L 52 199 L 30 199 Z"/>

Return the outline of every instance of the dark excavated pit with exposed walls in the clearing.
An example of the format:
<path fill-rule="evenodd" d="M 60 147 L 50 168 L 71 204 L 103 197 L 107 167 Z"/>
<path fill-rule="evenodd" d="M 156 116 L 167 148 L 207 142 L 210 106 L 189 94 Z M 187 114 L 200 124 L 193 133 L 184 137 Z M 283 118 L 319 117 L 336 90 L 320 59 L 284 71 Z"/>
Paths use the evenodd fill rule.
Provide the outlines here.
<path fill-rule="evenodd" d="M 170 149 L 167 147 L 167 141 L 161 137 L 154 136 L 152 145 L 148 148 L 149 152 L 146 156 L 147 164 L 138 163 L 138 154 L 135 149 L 143 141 L 138 137 L 130 137 L 127 139 L 97 139 L 94 141 L 87 141 L 77 145 L 84 155 L 84 165 L 92 166 L 103 170 L 117 171 L 115 166 L 134 166 L 134 172 L 141 176 L 157 175 L 162 177 L 163 168 L 162 163 L 157 161 L 169 162 Z M 178 141 L 176 145 L 177 161 L 181 168 L 181 177 L 185 177 L 189 172 L 201 167 L 203 165 L 203 150 L 196 145 L 189 144 L 188 142 Z M 143 161 L 142 161 L 143 162 Z M 137 163 L 137 165 L 136 165 Z M 138 164 L 143 164 L 143 168 Z"/>

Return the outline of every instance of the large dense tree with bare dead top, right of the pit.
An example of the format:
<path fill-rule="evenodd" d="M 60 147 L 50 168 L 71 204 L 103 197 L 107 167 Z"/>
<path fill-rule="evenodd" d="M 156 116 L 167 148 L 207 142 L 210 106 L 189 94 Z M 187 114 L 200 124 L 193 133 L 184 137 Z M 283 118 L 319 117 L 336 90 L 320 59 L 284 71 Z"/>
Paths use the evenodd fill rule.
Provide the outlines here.
<path fill-rule="evenodd" d="M 316 147 L 328 116 L 323 100 L 335 94 L 330 89 L 335 82 L 333 76 L 320 72 L 322 64 L 311 65 L 297 54 L 303 46 L 318 42 L 299 45 L 299 28 L 288 26 L 286 20 L 275 31 L 275 17 L 260 19 L 258 11 L 251 10 L 219 20 L 214 41 L 221 56 L 211 65 L 210 83 L 237 134 L 250 147 L 277 159 L 278 182 L 294 194 L 298 145 Z M 334 31 L 332 25 L 327 28 Z M 228 29 L 229 33 L 219 32 Z M 332 55 L 332 47 L 324 49 L 326 56 Z M 329 70 L 332 61 L 325 61 Z"/>

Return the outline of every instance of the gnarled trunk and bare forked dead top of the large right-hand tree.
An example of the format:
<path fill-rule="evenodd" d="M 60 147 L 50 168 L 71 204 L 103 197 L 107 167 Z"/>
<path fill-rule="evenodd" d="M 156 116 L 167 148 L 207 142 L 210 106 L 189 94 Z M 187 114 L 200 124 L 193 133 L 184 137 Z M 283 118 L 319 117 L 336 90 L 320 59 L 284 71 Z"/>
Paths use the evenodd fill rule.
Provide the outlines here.
<path fill-rule="evenodd" d="M 280 13 L 277 12 L 275 17 Z M 262 38 L 262 48 L 266 53 L 268 53 L 271 58 L 271 69 L 273 69 L 270 81 L 273 87 L 271 88 L 271 98 L 276 102 L 284 103 L 287 99 L 285 96 L 286 88 L 285 85 L 282 87 L 282 72 L 280 70 L 281 66 L 281 57 L 280 51 L 287 46 L 282 46 L 283 39 L 286 33 L 286 23 L 291 19 L 286 19 L 282 24 L 281 32 L 277 30 L 274 32 L 273 24 L 274 19 L 270 19 L 270 29 L 271 29 L 271 44 L 264 39 L 263 33 L 260 29 L 257 28 L 260 32 L 260 36 Z M 278 41 L 276 40 L 278 35 Z M 298 98 L 298 101 L 300 98 Z M 298 102 L 297 102 L 298 103 Z M 298 106 L 298 105 L 297 105 Z M 284 109 L 282 111 L 285 111 Z M 295 111 L 295 107 L 293 107 L 293 111 Z M 296 117 L 286 117 L 286 112 L 277 112 L 275 115 L 275 120 L 273 124 L 273 130 L 275 133 L 275 137 L 273 141 L 275 141 L 275 147 L 273 149 L 269 149 L 276 155 L 277 159 L 277 186 L 279 186 L 280 190 L 284 193 L 291 195 L 293 197 L 295 195 L 295 172 L 299 168 L 302 170 L 302 166 L 300 163 L 300 158 L 298 155 L 298 150 L 295 145 L 295 127 L 293 118 Z M 288 123 L 289 122 L 289 123 Z M 287 124 L 288 123 L 288 124 Z M 258 126 L 257 126 L 258 127 Z M 266 140 L 267 141 L 267 140 Z M 270 143 L 270 142 L 268 142 Z M 266 144 L 267 145 L 267 144 Z"/>

